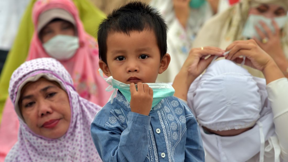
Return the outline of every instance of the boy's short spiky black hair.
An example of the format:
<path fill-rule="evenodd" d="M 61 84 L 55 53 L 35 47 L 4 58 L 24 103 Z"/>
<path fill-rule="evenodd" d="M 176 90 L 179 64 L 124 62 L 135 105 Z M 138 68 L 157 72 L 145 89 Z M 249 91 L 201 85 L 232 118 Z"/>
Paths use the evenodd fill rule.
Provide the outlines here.
<path fill-rule="evenodd" d="M 167 52 L 167 25 L 161 14 L 155 8 L 133 1 L 113 10 L 99 25 L 98 46 L 99 59 L 107 64 L 107 37 L 111 32 L 121 32 L 129 35 L 130 31 L 154 31 L 160 50 L 161 59 Z"/>

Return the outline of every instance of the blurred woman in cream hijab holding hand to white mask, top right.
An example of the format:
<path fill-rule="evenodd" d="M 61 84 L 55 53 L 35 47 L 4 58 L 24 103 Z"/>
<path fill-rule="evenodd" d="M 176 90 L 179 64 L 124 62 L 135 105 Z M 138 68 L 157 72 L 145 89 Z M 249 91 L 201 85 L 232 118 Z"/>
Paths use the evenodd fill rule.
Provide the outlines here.
<path fill-rule="evenodd" d="M 254 39 L 288 77 L 287 10 L 287 0 L 241 0 L 208 20 L 193 47 L 226 49 L 235 40 Z M 264 77 L 259 70 L 245 68 L 253 76 Z"/>

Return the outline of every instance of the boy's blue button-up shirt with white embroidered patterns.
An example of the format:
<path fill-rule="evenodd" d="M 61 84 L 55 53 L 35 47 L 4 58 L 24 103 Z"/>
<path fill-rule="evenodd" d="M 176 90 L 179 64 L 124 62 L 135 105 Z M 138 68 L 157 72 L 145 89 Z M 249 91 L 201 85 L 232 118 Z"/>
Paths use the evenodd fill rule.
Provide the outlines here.
<path fill-rule="evenodd" d="M 91 124 L 103 161 L 205 161 L 200 131 L 188 106 L 176 97 L 162 99 L 149 116 L 131 112 L 118 91 Z"/>

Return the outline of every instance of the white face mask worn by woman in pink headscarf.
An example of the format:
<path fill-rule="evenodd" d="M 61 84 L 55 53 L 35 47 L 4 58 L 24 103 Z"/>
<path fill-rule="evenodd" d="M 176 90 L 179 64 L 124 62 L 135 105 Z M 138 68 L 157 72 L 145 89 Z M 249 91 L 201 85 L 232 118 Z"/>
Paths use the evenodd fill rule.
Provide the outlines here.
<path fill-rule="evenodd" d="M 79 48 L 79 38 L 70 35 L 56 35 L 43 44 L 49 56 L 57 60 L 68 60 L 74 56 Z"/>

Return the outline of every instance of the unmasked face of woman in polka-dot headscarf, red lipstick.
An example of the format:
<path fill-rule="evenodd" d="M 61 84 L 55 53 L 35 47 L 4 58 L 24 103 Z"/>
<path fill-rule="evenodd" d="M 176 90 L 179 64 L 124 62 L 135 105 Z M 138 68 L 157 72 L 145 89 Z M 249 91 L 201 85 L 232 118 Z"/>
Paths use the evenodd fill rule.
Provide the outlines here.
<path fill-rule="evenodd" d="M 69 98 L 56 82 L 41 78 L 27 83 L 22 88 L 19 107 L 25 123 L 38 135 L 55 139 L 69 128 Z"/>

